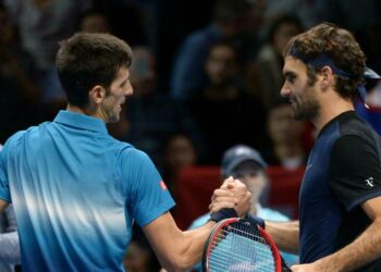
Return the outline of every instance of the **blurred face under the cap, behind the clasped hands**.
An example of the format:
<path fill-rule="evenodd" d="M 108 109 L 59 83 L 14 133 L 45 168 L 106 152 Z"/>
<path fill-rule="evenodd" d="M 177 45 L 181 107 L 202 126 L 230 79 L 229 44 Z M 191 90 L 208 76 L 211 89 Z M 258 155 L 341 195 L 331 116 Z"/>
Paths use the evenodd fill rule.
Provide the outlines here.
<path fill-rule="evenodd" d="M 247 186 L 251 193 L 251 202 L 256 205 L 266 185 L 263 169 L 254 161 L 244 161 L 233 170 L 232 175 Z"/>

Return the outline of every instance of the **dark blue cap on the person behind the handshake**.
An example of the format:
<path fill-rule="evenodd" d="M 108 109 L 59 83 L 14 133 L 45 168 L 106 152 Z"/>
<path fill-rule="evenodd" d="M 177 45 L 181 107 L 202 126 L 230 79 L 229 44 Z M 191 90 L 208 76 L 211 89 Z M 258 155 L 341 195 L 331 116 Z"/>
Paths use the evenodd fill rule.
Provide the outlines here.
<path fill-rule="evenodd" d="M 223 178 L 233 175 L 234 170 L 243 162 L 255 162 L 260 169 L 266 169 L 267 163 L 260 153 L 248 146 L 236 145 L 228 149 L 222 157 L 221 174 Z"/>

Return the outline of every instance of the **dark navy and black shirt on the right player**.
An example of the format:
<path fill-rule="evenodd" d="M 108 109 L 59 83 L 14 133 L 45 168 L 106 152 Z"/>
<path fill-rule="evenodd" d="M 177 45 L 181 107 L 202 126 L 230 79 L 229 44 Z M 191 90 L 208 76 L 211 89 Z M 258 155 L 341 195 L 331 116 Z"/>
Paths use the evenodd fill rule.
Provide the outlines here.
<path fill-rule="evenodd" d="M 310 152 L 300 187 L 302 263 L 351 244 L 370 224 L 361 208 L 381 196 L 381 139 L 354 111 L 330 121 Z M 378 259 L 356 271 L 381 271 Z"/>

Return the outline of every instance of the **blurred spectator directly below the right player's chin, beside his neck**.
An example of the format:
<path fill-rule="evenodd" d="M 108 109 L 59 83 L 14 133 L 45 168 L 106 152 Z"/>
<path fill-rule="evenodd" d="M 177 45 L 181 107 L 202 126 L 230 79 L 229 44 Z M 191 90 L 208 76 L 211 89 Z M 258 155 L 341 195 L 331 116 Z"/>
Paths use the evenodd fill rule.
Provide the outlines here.
<path fill-rule="evenodd" d="M 279 99 L 268 114 L 268 134 L 271 147 L 265 152 L 270 165 L 282 165 L 295 170 L 307 162 L 308 153 L 304 141 L 306 122 L 296 121 L 288 101 Z"/>

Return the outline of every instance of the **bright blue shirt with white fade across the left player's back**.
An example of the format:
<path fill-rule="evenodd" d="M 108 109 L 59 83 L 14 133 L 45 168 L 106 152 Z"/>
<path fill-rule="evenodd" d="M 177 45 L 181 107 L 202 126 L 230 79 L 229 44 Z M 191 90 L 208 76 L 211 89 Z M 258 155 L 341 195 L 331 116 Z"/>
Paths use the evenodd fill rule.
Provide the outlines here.
<path fill-rule="evenodd" d="M 146 153 L 67 111 L 7 141 L 0 198 L 14 206 L 23 271 L 38 272 L 123 271 L 133 221 L 174 206 Z"/>

